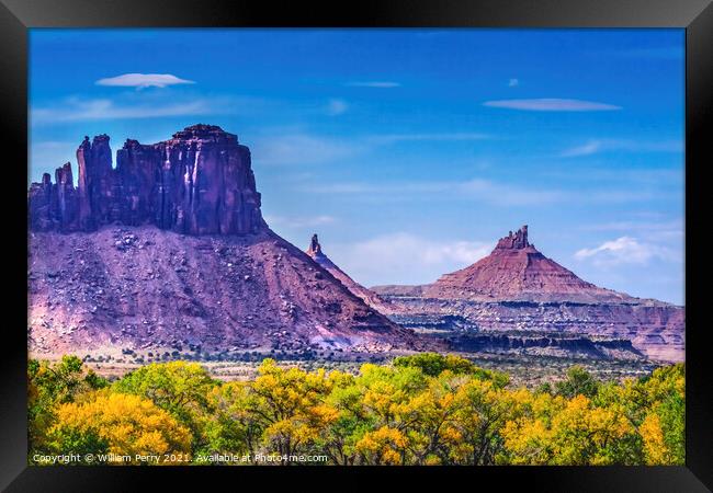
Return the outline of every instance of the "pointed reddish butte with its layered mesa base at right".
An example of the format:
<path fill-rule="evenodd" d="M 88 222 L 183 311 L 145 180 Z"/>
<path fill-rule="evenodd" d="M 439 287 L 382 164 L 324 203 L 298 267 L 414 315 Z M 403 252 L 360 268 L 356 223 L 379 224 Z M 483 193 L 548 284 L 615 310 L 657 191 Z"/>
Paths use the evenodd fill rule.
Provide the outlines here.
<path fill-rule="evenodd" d="M 684 357 L 682 307 L 597 287 L 540 253 L 528 229 L 498 241 L 493 253 L 431 285 L 371 288 L 410 328 L 532 331 L 631 341 L 655 360 Z"/>

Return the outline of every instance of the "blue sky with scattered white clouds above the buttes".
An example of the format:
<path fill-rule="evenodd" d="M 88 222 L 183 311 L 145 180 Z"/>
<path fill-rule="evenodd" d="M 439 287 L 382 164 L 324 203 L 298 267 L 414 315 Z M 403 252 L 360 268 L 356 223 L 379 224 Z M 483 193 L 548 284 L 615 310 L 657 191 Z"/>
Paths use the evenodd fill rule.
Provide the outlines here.
<path fill-rule="evenodd" d="M 358 282 L 429 283 L 522 223 L 600 286 L 683 303 L 683 30 L 31 30 L 30 179 L 84 135 L 195 123 L 263 215 Z"/>

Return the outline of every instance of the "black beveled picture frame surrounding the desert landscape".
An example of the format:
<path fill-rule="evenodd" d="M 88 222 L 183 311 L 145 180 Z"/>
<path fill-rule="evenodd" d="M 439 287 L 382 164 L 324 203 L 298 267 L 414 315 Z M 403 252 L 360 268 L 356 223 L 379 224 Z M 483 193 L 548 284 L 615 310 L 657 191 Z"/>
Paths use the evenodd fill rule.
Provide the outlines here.
<path fill-rule="evenodd" d="M 319 486 L 370 488 L 383 479 L 434 488 L 460 484 L 527 491 L 703 492 L 713 489 L 713 371 L 711 328 L 704 319 L 709 228 L 703 219 L 713 115 L 713 4 L 711 0 L 392 0 L 318 5 L 270 0 L 0 0 L 0 138 L 3 199 L 0 240 L 4 294 L 0 357 L 0 488 L 25 491 L 142 491 L 148 477 L 194 488 L 216 480 L 236 488 L 260 479 L 274 488 L 294 478 L 301 491 Z M 684 467 L 551 468 L 110 468 L 27 467 L 26 462 L 26 151 L 27 30 L 31 27 L 681 27 L 686 30 L 686 308 L 687 429 Z M 98 54 L 101 56 L 101 54 Z M 22 183 L 21 183 L 22 182 Z M 710 262 L 708 263 L 710 264 Z M 156 478 L 159 475 L 160 478 Z M 348 475 L 348 478 L 346 478 Z M 449 482 L 444 482 L 448 480 Z M 206 482 L 206 481 L 210 481 Z M 301 483 L 302 481 L 303 483 Z M 381 481 L 381 479 L 380 479 Z M 302 486 L 299 486 L 302 484 Z M 215 486 L 218 488 L 218 486 Z M 404 488 L 404 486 L 401 486 Z M 457 486 L 460 488 L 460 486 Z M 469 488 L 469 486 L 468 486 Z"/>

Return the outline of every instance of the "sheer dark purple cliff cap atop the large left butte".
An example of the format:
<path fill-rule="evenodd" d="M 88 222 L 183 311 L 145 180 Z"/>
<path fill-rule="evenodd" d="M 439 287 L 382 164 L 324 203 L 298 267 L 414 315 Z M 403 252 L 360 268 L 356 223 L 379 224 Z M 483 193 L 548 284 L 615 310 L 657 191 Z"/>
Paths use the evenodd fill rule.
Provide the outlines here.
<path fill-rule="evenodd" d="M 57 184 L 43 177 L 31 185 L 32 229 L 93 231 L 109 223 L 152 223 L 185 234 L 267 229 L 250 150 L 235 134 L 199 124 L 157 144 L 127 139 L 115 169 L 109 140 L 84 137 L 77 150 L 77 188 L 67 164 L 58 170 Z"/>

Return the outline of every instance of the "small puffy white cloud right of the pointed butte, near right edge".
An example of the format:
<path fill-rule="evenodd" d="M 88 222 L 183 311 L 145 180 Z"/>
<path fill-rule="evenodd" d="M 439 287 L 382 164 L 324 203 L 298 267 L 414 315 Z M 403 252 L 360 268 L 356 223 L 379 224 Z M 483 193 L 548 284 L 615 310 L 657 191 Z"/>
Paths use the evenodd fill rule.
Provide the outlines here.
<path fill-rule="evenodd" d="M 575 259 L 591 260 L 598 266 L 647 265 L 654 259 L 669 262 L 679 260 L 668 246 L 642 242 L 632 237 L 620 237 L 593 249 L 581 249 L 575 253 Z"/>

